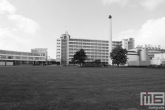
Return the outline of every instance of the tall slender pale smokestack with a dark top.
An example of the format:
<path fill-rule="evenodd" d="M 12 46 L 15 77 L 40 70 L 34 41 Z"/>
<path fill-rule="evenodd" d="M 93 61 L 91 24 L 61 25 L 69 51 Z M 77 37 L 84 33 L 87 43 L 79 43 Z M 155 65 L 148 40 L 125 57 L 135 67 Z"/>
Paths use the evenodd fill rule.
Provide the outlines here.
<path fill-rule="evenodd" d="M 110 33 L 109 33 L 109 53 L 112 51 L 112 16 L 109 15 L 110 19 Z M 112 64 L 112 59 L 109 56 L 109 64 Z"/>

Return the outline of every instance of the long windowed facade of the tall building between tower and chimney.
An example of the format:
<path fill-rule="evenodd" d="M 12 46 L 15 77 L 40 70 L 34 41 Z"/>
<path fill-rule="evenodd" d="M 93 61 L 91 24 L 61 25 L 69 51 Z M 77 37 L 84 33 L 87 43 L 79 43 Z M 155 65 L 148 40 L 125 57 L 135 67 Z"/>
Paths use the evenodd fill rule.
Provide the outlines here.
<path fill-rule="evenodd" d="M 79 49 L 84 49 L 88 56 L 87 62 L 100 59 L 101 62 L 108 63 L 109 42 L 105 40 L 90 39 L 69 39 L 69 60 Z"/>

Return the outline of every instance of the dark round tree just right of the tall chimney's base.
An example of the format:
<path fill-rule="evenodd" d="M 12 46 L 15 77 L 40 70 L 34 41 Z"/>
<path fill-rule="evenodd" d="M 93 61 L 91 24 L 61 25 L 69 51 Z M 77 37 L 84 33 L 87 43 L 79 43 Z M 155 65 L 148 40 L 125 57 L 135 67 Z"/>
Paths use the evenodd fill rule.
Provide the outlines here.
<path fill-rule="evenodd" d="M 110 53 L 110 57 L 112 59 L 112 64 L 126 64 L 127 62 L 127 50 L 123 49 L 121 46 L 117 46 L 112 49 Z"/>

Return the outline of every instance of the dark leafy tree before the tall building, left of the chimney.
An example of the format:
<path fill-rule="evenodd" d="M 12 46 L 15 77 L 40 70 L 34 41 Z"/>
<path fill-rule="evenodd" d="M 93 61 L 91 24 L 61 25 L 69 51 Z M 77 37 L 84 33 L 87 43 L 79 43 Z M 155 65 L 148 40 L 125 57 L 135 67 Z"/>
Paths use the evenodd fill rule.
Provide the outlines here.
<path fill-rule="evenodd" d="M 87 56 L 86 56 L 86 53 L 84 51 L 84 49 L 80 49 L 78 50 L 74 55 L 73 55 L 73 58 L 72 58 L 72 62 L 77 62 L 79 63 L 80 65 L 82 63 L 84 63 L 84 61 L 87 60 Z"/>

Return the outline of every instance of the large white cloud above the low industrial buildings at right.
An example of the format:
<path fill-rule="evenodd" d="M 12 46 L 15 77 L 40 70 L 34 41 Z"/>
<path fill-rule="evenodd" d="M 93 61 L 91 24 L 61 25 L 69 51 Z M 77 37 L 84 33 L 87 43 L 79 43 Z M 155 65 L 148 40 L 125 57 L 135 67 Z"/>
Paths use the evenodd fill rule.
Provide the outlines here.
<path fill-rule="evenodd" d="M 115 40 L 121 40 L 125 38 L 135 38 L 135 45 L 161 45 L 165 48 L 165 17 L 160 19 L 150 19 L 142 25 L 139 30 L 129 29 L 122 31 L 119 34 L 114 35 Z"/>

